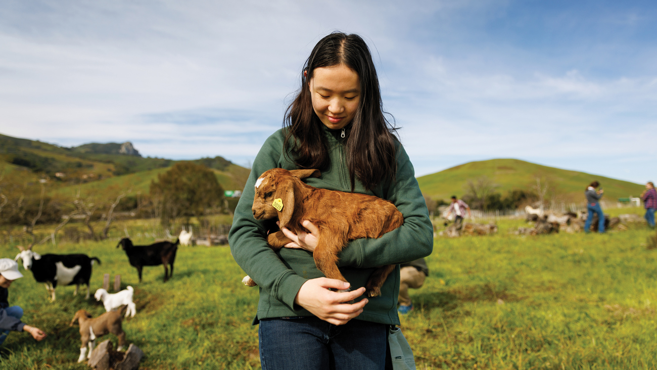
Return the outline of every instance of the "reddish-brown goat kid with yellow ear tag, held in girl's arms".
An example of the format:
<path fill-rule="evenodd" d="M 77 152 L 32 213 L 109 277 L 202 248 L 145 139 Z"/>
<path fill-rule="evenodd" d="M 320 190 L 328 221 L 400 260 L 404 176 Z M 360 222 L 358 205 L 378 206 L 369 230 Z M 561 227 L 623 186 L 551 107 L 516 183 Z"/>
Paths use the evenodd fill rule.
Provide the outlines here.
<path fill-rule="evenodd" d="M 319 229 L 313 252 L 315 265 L 329 279 L 347 281 L 338 269 L 338 254 L 349 241 L 360 238 L 380 238 L 401 226 L 404 218 L 396 206 L 371 195 L 317 189 L 301 179 L 319 177 L 319 170 L 284 170 L 273 168 L 256 181 L 253 216 L 256 220 L 278 218 L 281 227 L 293 233 L 306 231 L 301 223 L 308 220 Z M 267 243 L 273 250 L 290 243 L 283 231 L 271 233 Z M 380 288 L 395 265 L 378 267 L 367 280 L 367 296 L 378 296 Z M 250 277 L 242 280 L 254 287 Z"/>

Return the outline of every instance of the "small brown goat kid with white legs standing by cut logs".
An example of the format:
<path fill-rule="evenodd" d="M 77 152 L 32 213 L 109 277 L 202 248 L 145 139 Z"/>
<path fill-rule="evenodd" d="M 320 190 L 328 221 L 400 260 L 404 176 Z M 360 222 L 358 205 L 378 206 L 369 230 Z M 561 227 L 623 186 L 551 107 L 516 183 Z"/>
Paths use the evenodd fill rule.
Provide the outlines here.
<path fill-rule="evenodd" d="M 121 310 L 105 312 L 95 319 L 91 317 L 91 313 L 85 310 L 79 310 L 71 320 L 69 326 L 78 320 L 80 325 L 80 338 L 82 345 L 80 346 L 80 357 L 78 362 L 84 361 L 86 358 L 91 358 L 91 352 L 96 345 L 96 338 L 112 333 L 116 335 L 119 340 L 119 346 L 116 348 L 120 351 L 125 345 L 125 333 L 121 327 Z M 89 346 L 89 353 L 87 354 L 87 346 Z"/>

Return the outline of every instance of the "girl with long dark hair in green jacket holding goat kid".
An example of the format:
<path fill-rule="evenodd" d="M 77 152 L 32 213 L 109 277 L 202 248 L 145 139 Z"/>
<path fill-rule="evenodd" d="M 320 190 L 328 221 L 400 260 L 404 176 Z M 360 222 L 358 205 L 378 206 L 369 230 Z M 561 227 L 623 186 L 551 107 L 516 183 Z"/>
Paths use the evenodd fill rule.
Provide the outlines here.
<path fill-rule="evenodd" d="M 365 41 L 337 32 L 321 39 L 306 60 L 283 129 L 254 161 L 229 235 L 235 260 L 260 287 L 254 324 L 260 324 L 263 369 L 384 368 L 388 327 L 399 324 L 399 266 L 380 296 L 365 297 L 365 282 L 375 267 L 417 260 L 433 246 L 424 198 L 394 131 Z M 292 240 L 286 248 L 267 246 L 275 225 L 255 220 L 251 207 L 256 180 L 271 168 L 321 170 L 306 183 L 390 200 L 404 223 L 379 239 L 350 242 L 338 262 L 349 283 L 327 279 L 313 260 L 318 233 L 309 221 L 302 223 L 309 233 L 283 227 Z"/>

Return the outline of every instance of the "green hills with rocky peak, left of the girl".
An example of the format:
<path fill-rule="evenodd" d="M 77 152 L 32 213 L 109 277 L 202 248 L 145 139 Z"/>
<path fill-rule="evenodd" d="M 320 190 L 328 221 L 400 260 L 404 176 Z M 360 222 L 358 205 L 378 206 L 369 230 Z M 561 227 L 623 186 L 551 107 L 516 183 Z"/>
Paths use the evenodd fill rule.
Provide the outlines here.
<path fill-rule="evenodd" d="M 142 157 L 127 143 L 88 143 L 59 147 L 41 141 L 0 134 L 0 167 L 5 172 L 31 170 L 32 176 L 50 177 L 54 193 L 66 195 L 72 189 L 132 188 L 148 193 L 150 181 L 175 164 L 166 158 Z M 193 160 L 215 172 L 221 187 L 244 188 L 250 170 L 221 156 Z"/>

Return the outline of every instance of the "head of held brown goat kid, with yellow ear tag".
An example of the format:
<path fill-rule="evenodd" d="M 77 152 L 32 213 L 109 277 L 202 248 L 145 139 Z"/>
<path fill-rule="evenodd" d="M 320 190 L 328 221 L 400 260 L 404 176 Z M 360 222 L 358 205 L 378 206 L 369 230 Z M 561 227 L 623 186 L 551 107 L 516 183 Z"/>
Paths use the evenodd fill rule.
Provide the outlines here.
<path fill-rule="evenodd" d="M 251 210 L 256 220 L 279 218 L 281 226 L 287 225 L 294 213 L 296 185 L 306 177 L 319 177 L 319 170 L 284 170 L 273 168 L 256 181 L 256 194 Z"/>

